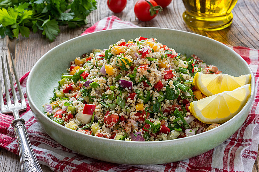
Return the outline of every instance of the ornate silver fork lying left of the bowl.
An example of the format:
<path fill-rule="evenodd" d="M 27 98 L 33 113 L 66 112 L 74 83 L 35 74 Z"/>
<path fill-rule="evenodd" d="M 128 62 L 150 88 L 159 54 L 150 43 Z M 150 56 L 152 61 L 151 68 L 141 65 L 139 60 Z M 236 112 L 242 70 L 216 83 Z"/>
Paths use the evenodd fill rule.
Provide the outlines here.
<path fill-rule="evenodd" d="M 5 54 L 6 63 L 7 63 L 7 71 L 8 71 L 9 80 L 10 80 L 13 98 L 14 98 L 14 104 L 11 103 L 11 99 L 10 99 L 10 95 L 9 95 L 9 91 L 8 91 L 8 87 L 7 87 L 7 80 L 6 80 L 5 68 L 4 68 L 4 64 L 3 64 L 2 55 L 1 55 L 1 58 L 2 58 L 3 79 L 4 79 L 4 85 L 5 85 L 5 97 L 6 97 L 7 105 L 4 104 L 2 87 L 0 85 L 0 109 L 1 109 L 1 112 L 4 114 L 12 113 L 14 115 L 14 120 L 12 121 L 12 127 L 14 127 L 14 134 L 15 134 L 15 138 L 16 138 L 16 141 L 18 144 L 22 172 L 42 172 L 41 167 L 39 166 L 39 163 L 35 157 L 35 154 L 33 153 L 33 149 L 31 147 L 31 143 L 28 138 L 26 128 L 24 126 L 25 121 L 24 121 L 24 119 L 20 118 L 20 115 L 19 115 L 19 112 L 26 110 L 27 106 L 26 106 L 26 102 L 25 102 L 25 99 L 24 99 L 24 96 L 22 93 L 22 88 L 21 88 L 21 85 L 19 82 L 19 78 L 17 77 L 17 73 L 14 68 L 13 56 L 11 54 L 14 77 L 15 77 L 16 84 L 18 87 L 18 92 L 19 92 L 19 95 L 21 98 L 21 103 L 18 102 L 12 75 L 11 75 L 10 68 L 9 68 L 7 54 Z"/>

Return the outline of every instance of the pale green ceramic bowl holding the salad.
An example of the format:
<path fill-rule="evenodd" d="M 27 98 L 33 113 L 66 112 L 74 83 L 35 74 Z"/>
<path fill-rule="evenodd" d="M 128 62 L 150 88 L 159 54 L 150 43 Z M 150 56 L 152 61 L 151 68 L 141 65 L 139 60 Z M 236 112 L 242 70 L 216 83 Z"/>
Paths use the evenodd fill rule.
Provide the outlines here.
<path fill-rule="evenodd" d="M 245 107 L 221 126 L 194 136 L 155 142 L 130 142 L 90 136 L 68 129 L 43 114 L 42 105 L 53 96 L 60 76 L 69 62 L 93 48 L 108 48 L 124 38 L 139 36 L 157 38 L 176 52 L 195 54 L 207 64 L 217 66 L 233 76 L 251 74 L 252 93 Z M 161 164 L 191 158 L 215 148 L 233 135 L 244 123 L 252 107 L 255 92 L 254 75 L 248 64 L 224 44 L 193 33 L 162 28 L 127 28 L 95 32 L 68 40 L 43 55 L 27 80 L 27 97 L 31 110 L 42 128 L 54 140 L 77 153 L 95 159 L 122 164 Z"/>

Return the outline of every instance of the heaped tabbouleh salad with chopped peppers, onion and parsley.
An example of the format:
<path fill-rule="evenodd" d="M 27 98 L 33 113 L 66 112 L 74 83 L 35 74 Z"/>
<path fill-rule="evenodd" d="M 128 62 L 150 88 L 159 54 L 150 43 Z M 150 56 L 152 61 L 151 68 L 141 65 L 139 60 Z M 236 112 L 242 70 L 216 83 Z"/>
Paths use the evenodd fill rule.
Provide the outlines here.
<path fill-rule="evenodd" d="M 220 124 L 191 115 L 206 97 L 193 84 L 197 72 L 220 74 L 195 55 L 186 56 L 155 38 L 124 39 L 70 62 L 54 97 L 44 105 L 53 121 L 77 132 L 127 141 L 188 137 Z"/>

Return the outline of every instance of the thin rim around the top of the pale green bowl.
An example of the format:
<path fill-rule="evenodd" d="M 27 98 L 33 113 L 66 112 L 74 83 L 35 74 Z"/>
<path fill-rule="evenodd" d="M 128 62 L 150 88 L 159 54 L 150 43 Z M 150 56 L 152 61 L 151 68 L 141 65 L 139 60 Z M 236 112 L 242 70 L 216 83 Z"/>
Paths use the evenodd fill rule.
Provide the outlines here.
<path fill-rule="evenodd" d="M 68 44 L 69 42 L 73 42 L 75 41 L 76 39 L 78 38 L 83 38 L 83 37 L 87 37 L 88 35 L 95 35 L 95 34 L 99 34 L 99 33 L 102 33 L 102 32 L 114 32 L 114 31 L 117 31 L 117 30 L 145 30 L 145 29 L 158 29 L 158 30 L 168 30 L 168 31 L 174 31 L 174 32 L 182 32 L 184 34 L 189 34 L 189 35 L 192 35 L 192 36 L 196 36 L 196 37 L 201 37 L 202 39 L 204 39 L 205 41 L 212 41 L 213 43 L 215 44 L 219 44 L 220 46 L 222 46 L 223 48 L 227 48 L 229 51 L 231 51 L 232 53 L 234 53 L 238 58 L 240 58 L 246 65 L 246 67 L 248 67 L 249 71 L 250 71 L 250 74 L 251 74 L 251 82 L 250 84 L 253 85 L 253 87 L 251 86 L 251 95 L 249 97 L 249 99 L 247 100 L 246 104 L 244 105 L 244 107 L 239 111 L 238 114 L 236 114 L 233 118 L 231 118 L 230 120 L 228 120 L 227 122 L 221 124 L 220 126 L 216 127 L 216 128 L 213 128 L 211 130 L 208 130 L 206 132 L 202 132 L 200 134 L 197 134 L 197 135 L 193 135 L 193 136 L 189 136 L 189 137 L 184 137 L 184 138 L 178 138 L 178 139 L 172 139 L 172 140 L 160 140 L 160 141 L 151 141 L 151 142 L 135 142 L 135 141 L 125 141 L 125 140 L 113 140 L 113 139 L 107 139 L 107 138 L 101 138 L 101 137 L 96 137 L 96 136 L 92 136 L 92 135 L 88 135 L 88 134 L 84 134 L 84 133 L 81 133 L 81 132 L 77 132 L 76 130 L 71 130 L 65 126 L 62 126 L 56 122 L 54 122 L 53 120 L 51 120 L 50 118 L 48 118 L 45 114 L 43 114 L 43 112 L 41 112 L 41 110 L 39 110 L 39 108 L 33 103 L 32 98 L 31 98 L 31 94 L 29 92 L 29 87 L 30 87 L 30 82 L 31 82 L 31 75 L 32 73 L 34 72 L 34 69 L 37 68 L 37 66 L 39 65 L 39 63 L 42 61 L 42 60 L 45 60 L 45 58 L 47 58 L 48 54 L 52 51 L 55 51 L 55 49 L 57 47 L 60 47 L 60 46 L 63 46 L 64 44 Z M 116 142 L 122 142 L 125 143 L 125 144 L 129 144 L 129 145 L 132 145 L 132 144 L 140 144 L 140 145 L 143 145 L 143 144 L 157 144 L 157 143 L 161 143 L 161 144 L 173 144 L 173 143 L 176 143 L 176 142 L 186 142 L 188 141 L 189 139 L 199 139 L 201 137 L 204 137 L 204 136 L 207 136 L 207 135 L 210 135 L 214 132 L 216 132 L 217 130 L 222 130 L 223 128 L 227 127 L 228 125 L 230 125 L 232 122 L 234 122 L 236 120 L 236 118 L 238 118 L 242 113 L 243 111 L 248 108 L 250 106 L 250 104 L 253 102 L 253 99 L 254 99 L 254 94 L 255 94 L 255 79 L 254 79 L 254 74 L 252 72 L 252 69 L 249 67 L 249 65 L 247 64 L 247 62 L 239 55 L 237 54 L 237 52 L 235 52 L 234 50 L 232 50 L 231 48 L 229 48 L 228 46 L 226 46 L 225 44 L 221 43 L 221 42 L 218 42 L 214 39 L 211 39 L 211 38 L 208 38 L 206 36 L 202 36 L 202 35 L 199 35 L 199 34 L 195 34 L 195 33 L 191 33 L 191 32 L 186 32 L 186 31 L 182 31 L 182 30 L 175 30 L 175 29 L 168 29 L 168 28 L 156 28 L 156 27 L 137 27 L 137 28 L 118 28 L 118 29 L 110 29 L 110 30 L 102 30 L 102 31 L 97 31 L 97 32 L 93 32 L 93 33 L 89 33 L 89 34 L 85 34 L 85 35 L 82 35 L 82 36 L 78 36 L 78 37 L 75 37 L 75 38 L 72 38 L 70 40 L 67 40 L 57 46 L 55 46 L 54 48 L 50 49 L 48 52 L 46 52 L 43 56 L 41 56 L 41 58 L 39 58 L 39 60 L 34 64 L 33 68 L 31 69 L 29 75 L 28 75 L 28 78 L 27 78 L 27 83 L 26 83 L 26 93 L 27 93 L 27 99 L 28 99 L 28 102 L 30 103 L 30 106 L 33 106 L 33 108 L 41 115 L 43 116 L 44 119 L 47 119 L 47 121 L 49 121 L 50 123 L 54 124 L 56 127 L 62 129 L 62 130 L 66 130 L 66 132 L 70 132 L 71 134 L 78 134 L 78 136 L 82 136 L 82 137 L 85 137 L 86 139 L 92 139 L 92 140 L 95 140 L 95 139 L 101 139 L 102 141 L 106 141 L 106 142 L 110 142 L 111 144 L 113 143 L 116 143 Z M 81 134 L 81 135 L 80 135 Z M 99 140 L 99 141 L 101 141 Z"/>

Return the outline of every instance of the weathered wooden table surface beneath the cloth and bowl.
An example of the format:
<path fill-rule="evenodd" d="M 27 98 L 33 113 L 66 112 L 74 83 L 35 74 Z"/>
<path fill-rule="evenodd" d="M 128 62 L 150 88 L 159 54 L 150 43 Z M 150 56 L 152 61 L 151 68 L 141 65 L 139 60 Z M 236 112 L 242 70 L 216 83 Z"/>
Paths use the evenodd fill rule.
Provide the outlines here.
<path fill-rule="evenodd" d="M 4 39 L 0 39 L 0 54 L 15 54 L 16 70 L 19 77 L 22 77 L 51 48 L 79 36 L 86 28 L 110 15 L 116 15 L 122 20 L 131 21 L 141 27 L 148 26 L 184 30 L 207 36 L 225 44 L 259 49 L 259 0 L 238 0 L 237 5 L 232 11 L 234 15 L 232 25 L 220 31 L 201 31 L 189 28 L 182 19 L 182 13 L 185 9 L 181 0 L 173 0 L 153 20 L 141 22 L 134 15 L 136 1 L 128 0 L 123 12 L 115 14 L 108 9 L 106 0 L 99 0 L 97 10 L 93 11 L 87 17 L 89 23 L 86 26 L 76 29 L 61 27 L 60 34 L 54 42 L 46 40 L 41 33 L 34 34 L 33 32 L 31 32 L 29 38 L 20 36 L 17 40 L 11 40 L 5 37 Z M 119 39 L 121 38 L 118 37 Z M 2 81 L 1 72 L 0 75 Z M 51 171 L 45 165 L 41 165 L 41 167 L 43 171 Z M 5 149 L 0 149 L 0 171 L 21 171 L 18 155 L 14 155 Z M 254 163 L 253 172 L 259 172 L 259 156 L 257 156 L 257 160 Z"/>

